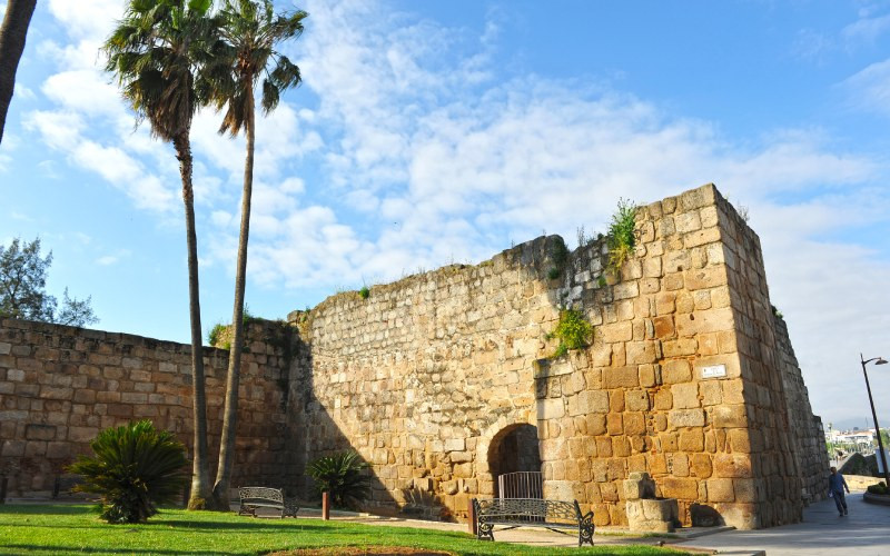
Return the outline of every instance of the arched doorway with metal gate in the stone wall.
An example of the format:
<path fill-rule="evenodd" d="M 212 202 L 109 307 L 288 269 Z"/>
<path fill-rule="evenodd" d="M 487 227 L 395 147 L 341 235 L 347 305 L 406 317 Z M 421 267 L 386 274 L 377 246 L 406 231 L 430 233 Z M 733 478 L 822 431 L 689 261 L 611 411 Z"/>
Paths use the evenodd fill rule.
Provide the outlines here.
<path fill-rule="evenodd" d="M 488 446 L 488 468 L 495 498 L 541 497 L 537 427 L 523 423 L 497 433 Z"/>

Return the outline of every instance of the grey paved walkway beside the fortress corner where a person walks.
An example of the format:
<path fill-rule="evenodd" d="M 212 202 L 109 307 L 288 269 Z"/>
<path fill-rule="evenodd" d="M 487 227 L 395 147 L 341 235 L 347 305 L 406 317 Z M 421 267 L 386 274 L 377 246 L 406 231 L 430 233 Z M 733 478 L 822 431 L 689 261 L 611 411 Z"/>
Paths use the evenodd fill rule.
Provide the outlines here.
<path fill-rule="evenodd" d="M 831 499 L 803 510 L 803 522 L 760 530 L 730 530 L 673 546 L 716 549 L 718 554 L 768 556 L 888 556 L 890 555 L 890 506 L 867 504 L 862 493 L 847 495 L 850 515 L 839 517 Z"/>

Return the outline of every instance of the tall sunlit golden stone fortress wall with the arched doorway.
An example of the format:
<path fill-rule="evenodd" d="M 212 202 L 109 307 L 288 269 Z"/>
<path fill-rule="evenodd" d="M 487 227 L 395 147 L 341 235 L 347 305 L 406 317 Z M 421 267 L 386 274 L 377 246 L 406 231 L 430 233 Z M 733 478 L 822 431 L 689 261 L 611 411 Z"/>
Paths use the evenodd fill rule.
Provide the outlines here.
<path fill-rule="evenodd" d="M 291 384 L 298 461 L 354 447 L 373 464 L 372 507 L 464 518 L 517 470 L 503 443 L 534 427 L 545 496 L 597 524 L 626 523 L 631 471 L 686 525 L 799 520 L 827 459 L 756 235 L 711 185 L 642 208 L 637 231 L 621 276 L 602 241 L 562 261 L 562 240 L 542 237 L 293 314 L 312 353 Z M 561 307 L 595 339 L 551 360 Z"/>

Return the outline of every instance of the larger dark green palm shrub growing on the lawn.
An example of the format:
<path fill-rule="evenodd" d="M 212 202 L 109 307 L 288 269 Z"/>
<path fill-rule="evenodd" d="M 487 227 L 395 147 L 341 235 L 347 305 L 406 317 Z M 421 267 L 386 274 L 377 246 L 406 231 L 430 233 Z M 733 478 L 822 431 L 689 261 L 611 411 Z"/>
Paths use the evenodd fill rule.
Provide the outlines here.
<path fill-rule="evenodd" d="M 90 447 L 95 456 L 80 456 L 68 469 L 83 476 L 76 490 L 101 496 L 108 523 L 144 523 L 182 492 L 186 448 L 150 420 L 102 430 Z"/>

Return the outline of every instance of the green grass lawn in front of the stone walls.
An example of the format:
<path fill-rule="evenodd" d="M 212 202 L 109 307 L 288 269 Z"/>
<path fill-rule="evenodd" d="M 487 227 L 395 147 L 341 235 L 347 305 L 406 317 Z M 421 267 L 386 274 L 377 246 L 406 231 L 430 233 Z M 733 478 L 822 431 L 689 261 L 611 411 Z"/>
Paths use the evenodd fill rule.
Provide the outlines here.
<path fill-rule="evenodd" d="M 594 542 L 596 542 L 594 539 Z M 476 540 L 465 533 L 320 519 L 255 519 L 164 509 L 144 525 L 108 525 L 88 505 L 0 505 L 0 554 L 267 554 L 296 548 L 407 546 L 461 555 L 683 554 L 651 546 L 533 548 Z"/>

